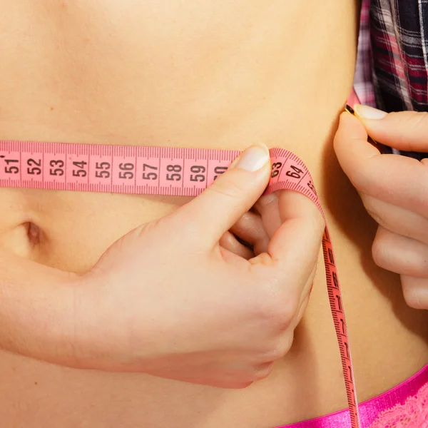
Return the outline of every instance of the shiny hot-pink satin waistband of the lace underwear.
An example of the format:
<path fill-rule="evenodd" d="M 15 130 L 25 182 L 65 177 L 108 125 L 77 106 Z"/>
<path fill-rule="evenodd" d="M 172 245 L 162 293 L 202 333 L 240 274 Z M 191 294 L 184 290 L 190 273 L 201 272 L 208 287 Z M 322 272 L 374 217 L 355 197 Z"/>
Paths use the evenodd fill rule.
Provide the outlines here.
<path fill-rule="evenodd" d="M 374 397 L 367 402 L 360 404 L 360 419 L 362 428 L 370 428 L 380 413 L 392 409 L 397 404 L 405 404 L 409 397 L 417 395 L 417 393 L 428 385 L 428 365 L 420 372 L 408 379 L 406 382 L 399 384 L 393 389 L 384 392 L 384 394 Z M 327 416 L 317 417 L 305 422 L 297 424 L 284 425 L 277 428 L 347 428 L 351 426 L 349 410 L 328 414 Z M 410 425 L 411 427 L 413 425 Z M 423 425 L 428 427 L 427 425 Z M 421 427 L 422 428 L 422 427 Z"/>

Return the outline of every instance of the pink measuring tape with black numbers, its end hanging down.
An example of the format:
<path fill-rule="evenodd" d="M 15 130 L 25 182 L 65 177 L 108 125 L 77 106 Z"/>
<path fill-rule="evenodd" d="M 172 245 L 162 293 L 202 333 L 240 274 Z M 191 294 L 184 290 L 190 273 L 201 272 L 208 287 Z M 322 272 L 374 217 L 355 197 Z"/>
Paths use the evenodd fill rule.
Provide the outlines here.
<path fill-rule="evenodd" d="M 224 173 L 240 151 L 0 141 L 0 188 L 196 196 Z M 295 190 L 322 213 L 312 177 L 293 153 L 270 149 L 265 194 Z M 339 343 L 352 428 L 360 428 L 355 377 L 335 255 L 327 225 L 322 238 L 328 298 Z"/>

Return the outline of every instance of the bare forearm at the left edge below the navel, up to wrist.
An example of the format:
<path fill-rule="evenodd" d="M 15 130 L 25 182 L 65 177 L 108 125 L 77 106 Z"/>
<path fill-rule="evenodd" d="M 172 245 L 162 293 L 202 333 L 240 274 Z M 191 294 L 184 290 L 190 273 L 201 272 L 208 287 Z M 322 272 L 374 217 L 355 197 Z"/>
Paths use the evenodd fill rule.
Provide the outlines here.
<path fill-rule="evenodd" d="M 0 350 L 76 366 L 75 279 L 0 252 Z"/>

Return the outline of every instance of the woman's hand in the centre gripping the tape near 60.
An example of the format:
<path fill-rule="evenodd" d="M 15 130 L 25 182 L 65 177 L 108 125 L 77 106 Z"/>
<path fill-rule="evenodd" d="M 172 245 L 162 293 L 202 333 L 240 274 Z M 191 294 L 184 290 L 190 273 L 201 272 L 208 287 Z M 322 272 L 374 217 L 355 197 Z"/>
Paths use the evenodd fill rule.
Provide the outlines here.
<path fill-rule="evenodd" d="M 76 365 L 233 388 L 266 377 L 292 344 L 325 227 L 304 195 L 258 201 L 269 176 L 267 148 L 250 148 L 198 198 L 111 246 L 75 288 Z M 257 256 L 220 245 L 233 225 Z"/>

